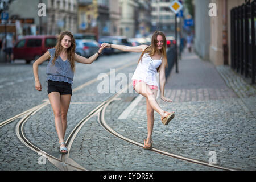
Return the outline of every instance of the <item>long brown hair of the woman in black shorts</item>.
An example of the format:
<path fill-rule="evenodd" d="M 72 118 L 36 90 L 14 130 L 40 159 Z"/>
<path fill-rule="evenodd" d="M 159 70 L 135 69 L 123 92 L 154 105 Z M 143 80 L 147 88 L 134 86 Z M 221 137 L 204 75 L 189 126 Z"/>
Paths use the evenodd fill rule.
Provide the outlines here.
<path fill-rule="evenodd" d="M 57 39 L 57 44 L 54 47 L 55 50 L 55 55 L 52 60 L 52 64 L 55 64 L 56 59 L 60 56 L 61 51 L 63 51 L 63 47 L 61 46 L 61 40 L 64 38 L 64 36 L 67 35 L 71 38 L 71 46 L 67 49 L 67 57 L 68 61 L 71 65 L 71 69 L 73 72 L 75 72 L 75 49 L 76 49 L 76 43 L 75 43 L 75 38 L 69 31 L 64 31 L 61 32 L 59 35 L 59 38 Z"/>

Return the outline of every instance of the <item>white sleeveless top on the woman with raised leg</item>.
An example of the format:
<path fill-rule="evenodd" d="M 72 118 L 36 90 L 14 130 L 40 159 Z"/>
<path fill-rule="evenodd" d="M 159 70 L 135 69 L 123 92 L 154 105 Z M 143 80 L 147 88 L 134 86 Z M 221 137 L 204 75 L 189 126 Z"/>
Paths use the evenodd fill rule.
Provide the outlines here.
<path fill-rule="evenodd" d="M 139 64 L 133 73 L 131 80 L 142 80 L 148 85 L 158 86 L 158 81 L 156 80 L 157 68 L 162 63 L 162 57 L 159 60 L 151 59 L 148 53 L 144 53 L 142 59 L 139 60 Z"/>

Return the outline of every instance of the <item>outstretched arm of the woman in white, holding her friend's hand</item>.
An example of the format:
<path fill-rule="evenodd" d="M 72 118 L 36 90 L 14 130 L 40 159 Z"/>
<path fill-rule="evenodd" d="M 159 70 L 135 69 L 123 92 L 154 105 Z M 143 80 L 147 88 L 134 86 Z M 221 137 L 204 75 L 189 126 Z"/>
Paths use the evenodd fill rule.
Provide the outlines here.
<path fill-rule="evenodd" d="M 143 52 L 144 49 L 146 49 L 148 47 L 148 45 L 125 46 L 125 45 L 108 44 L 108 43 L 103 43 L 102 46 L 108 47 L 108 48 L 113 48 L 113 49 L 118 49 L 120 51 L 125 51 L 125 52 Z"/>

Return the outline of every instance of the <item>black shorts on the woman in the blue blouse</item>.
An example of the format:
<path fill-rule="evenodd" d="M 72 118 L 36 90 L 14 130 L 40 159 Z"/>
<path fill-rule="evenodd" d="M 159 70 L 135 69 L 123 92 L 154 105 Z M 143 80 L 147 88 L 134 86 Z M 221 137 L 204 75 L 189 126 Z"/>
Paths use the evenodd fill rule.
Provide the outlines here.
<path fill-rule="evenodd" d="M 63 81 L 48 80 L 48 95 L 51 92 L 59 92 L 60 95 L 71 94 L 72 96 L 71 84 Z"/>

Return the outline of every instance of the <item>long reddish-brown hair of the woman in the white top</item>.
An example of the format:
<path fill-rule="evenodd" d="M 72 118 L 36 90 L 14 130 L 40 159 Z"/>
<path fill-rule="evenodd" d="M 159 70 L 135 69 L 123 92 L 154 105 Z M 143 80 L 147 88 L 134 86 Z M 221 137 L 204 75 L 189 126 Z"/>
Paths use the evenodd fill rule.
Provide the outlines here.
<path fill-rule="evenodd" d="M 161 35 L 163 37 L 163 48 L 160 50 L 157 48 L 158 35 Z M 152 35 L 151 45 L 148 46 L 146 49 L 144 49 L 144 51 L 141 54 L 141 57 L 139 57 L 138 63 L 142 59 L 144 53 L 148 53 L 150 55 L 150 57 L 155 55 L 155 53 L 158 53 L 160 56 L 163 57 L 162 60 L 164 60 L 166 67 L 167 67 L 168 63 L 167 63 L 167 55 L 166 55 L 166 47 L 167 47 L 166 45 L 167 45 L 166 44 L 166 36 L 163 34 L 163 32 L 155 31 L 154 34 Z M 156 69 L 158 72 L 159 72 L 159 67 Z"/>

